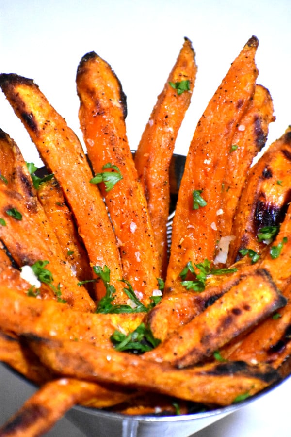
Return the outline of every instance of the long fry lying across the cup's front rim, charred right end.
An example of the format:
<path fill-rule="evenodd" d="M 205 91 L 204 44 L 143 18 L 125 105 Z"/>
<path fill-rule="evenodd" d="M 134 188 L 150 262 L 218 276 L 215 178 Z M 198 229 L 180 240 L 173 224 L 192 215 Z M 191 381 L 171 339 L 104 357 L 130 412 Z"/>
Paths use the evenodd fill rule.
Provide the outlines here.
<path fill-rule="evenodd" d="M 165 362 L 144 359 L 143 355 L 114 350 L 109 353 L 79 342 L 39 338 L 30 344 L 53 371 L 87 381 L 116 383 L 142 390 L 146 387 L 146 390 L 194 402 L 228 405 L 238 395 L 253 395 L 278 378 L 276 371 L 264 364 L 251 366 L 239 361 L 176 369 Z"/>

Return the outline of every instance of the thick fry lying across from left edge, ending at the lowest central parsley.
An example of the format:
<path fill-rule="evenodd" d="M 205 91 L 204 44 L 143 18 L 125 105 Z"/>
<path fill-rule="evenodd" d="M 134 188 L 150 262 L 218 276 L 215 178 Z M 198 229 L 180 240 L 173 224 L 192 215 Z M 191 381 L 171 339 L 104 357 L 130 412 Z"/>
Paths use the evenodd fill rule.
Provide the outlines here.
<path fill-rule="evenodd" d="M 7 281 L 8 282 L 8 281 Z M 41 300 L 14 291 L 4 281 L 0 288 L 0 328 L 17 335 L 39 336 L 92 342 L 112 347 L 110 336 L 116 329 L 134 331 L 144 314 L 92 314 L 72 310 L 64 303 Z"/>

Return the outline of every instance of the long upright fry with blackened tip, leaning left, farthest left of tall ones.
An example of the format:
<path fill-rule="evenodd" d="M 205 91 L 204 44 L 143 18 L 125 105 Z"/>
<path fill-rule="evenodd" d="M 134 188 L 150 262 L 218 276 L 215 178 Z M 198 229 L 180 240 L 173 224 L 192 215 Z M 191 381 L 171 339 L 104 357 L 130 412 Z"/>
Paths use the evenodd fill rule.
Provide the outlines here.
<path fill-rule="evenodd" d="M 116 238 L 102 196 L 97 187 L 90 184 L 92 172 L 79 139 L 33 80 L 2 73 L 0 86 L 46 167 L 61 185 L 90 262 L 110 269 L 116 296 L 121 298 L 124 292 L 120 283 L 122 271 Z M 98 282 L 96 287 L 97 296 L 102 296 L 103 284 Z"/>

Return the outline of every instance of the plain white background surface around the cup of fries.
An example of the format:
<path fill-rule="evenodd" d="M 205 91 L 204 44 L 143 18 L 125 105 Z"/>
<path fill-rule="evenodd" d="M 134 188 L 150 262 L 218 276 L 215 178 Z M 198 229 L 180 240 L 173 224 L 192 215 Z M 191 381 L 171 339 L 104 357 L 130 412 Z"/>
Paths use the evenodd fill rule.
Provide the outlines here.
<path fill-rule="evenodd" d="M 269 88 L 275 106 L 270 143 L 291 123 L 290 22 L 289 0 L 0 0 L 0 70 L 33 78 L 81 138 L 75 75 L 81 56 L 95 50 L 112 65 L 128 97 L 128 136 L 135 149 L 183 37 L 188 36 L 196 52 L 198 74 L 176 146 L 177 152 L 186 153 L 213 92 L 244 43 L 255 34 L 259 38 L 258 83 Z M 0 127 L 16 140 L 27 161 L 41 165 L 1 95 Z M 4 382 L 7 379 L 0 380 L 1 385 Z M 12 384 L 9 381 L 0 390 L 0 422 L 3 411 L 13 410 L 19 402 L 17 389 L 9 389 Z M 197 436 L 290 436 L 289 390 L 291 381 Z M 65 434 L 58 428 L 51 435 Z M 73 431 L 67 435 L 73 436 Z"/>

